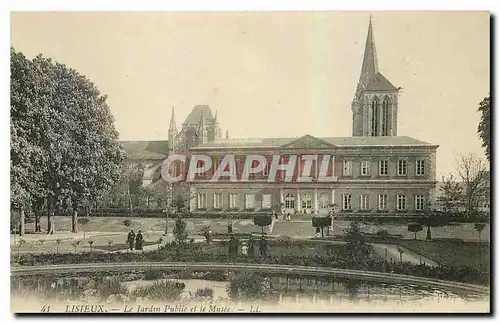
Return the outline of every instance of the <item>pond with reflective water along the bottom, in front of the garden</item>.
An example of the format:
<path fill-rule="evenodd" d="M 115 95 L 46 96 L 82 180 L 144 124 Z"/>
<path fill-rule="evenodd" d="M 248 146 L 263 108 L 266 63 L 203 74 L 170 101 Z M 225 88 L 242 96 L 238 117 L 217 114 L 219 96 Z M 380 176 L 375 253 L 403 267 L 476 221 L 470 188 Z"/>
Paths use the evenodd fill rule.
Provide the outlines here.
<path fill-rule="evenodd" d="M 134 290 L 139 287 L 151 286 L 156 282 L 176 281 L 184 283 L 184 288 L 175 303 L 189 303 L 195 299 L 198 290 L 211 289 L 210 301 L 233 304 L 233 310 L 238 311 L 243 305 L 240 300 L 231 302 L 228 294 L 229 281 L 192 279 L 167 275 L 167 278 L 144 279 L 144 276 L 131 273 L 125 276 L 107 275 L 101 278 L 114 279 L 120 277 L 119 284 L 127 294 L 122 303 L 136 304 L 137 299 L 133 297 Z M 61 304 L 70 300 L 85 300 L 82 297 L 88 290 L 96 288 L 89 287 L 92 277 L 67 276 L 56 277 L 22 277 L 14 278 L 11 282 L 11 290 L 15 297 L 27 297 L 38 295 L 46 299 L 56 297 Z M 334 282 L 321 282 L 314 279 L 286 279 L 284 277 L 269 278 L 276 297 L 269 302 L 253 301 L 260 311 L 468 311 L 489 310 L 489 297 L 479 294 L 460 294 L 442 288 L 431 288 L 411 284 L 383 284 L 359 280 L 336 280 Z M 29 290 L 30 293 L 26 293 Z M 21 293 L 21 291 L 24 291 Z M 69 291 L 69 292 L 68 292 Z M 108 293 L 109 294 L 109 293 Z M 117 301 L 116 297 L 112 298 Z M 148 298 L 148 301 L 154 299 Z M 200 300 L 199 298 L 196 300 Z M 205 301 L 206 299 L 203 299 Z M 110 302 L 110 297 L 105 296 L 102 301 Z M 120 301 L 120 300 L 118 300 Z M 163 304 L 165 301 L 163 300 Z M 248 302 L 244 302 L 247 304 Z M 245 305 L 246 306 L 246 305 Z M 243 306 L 241 311 L 248 309 Z"/>

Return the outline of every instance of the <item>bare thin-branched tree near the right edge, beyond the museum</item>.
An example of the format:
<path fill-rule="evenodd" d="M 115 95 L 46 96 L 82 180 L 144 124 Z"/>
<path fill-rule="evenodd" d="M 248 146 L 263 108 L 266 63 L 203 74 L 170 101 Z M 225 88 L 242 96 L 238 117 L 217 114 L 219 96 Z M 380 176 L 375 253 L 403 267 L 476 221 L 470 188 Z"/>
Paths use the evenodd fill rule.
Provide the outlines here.
<path fill-rule="evenodd" d="M 458 174 L 464 185 L 466 211 L 471 215 L 479 206 L 489 186 L 488 162 L 469 154 L 460 156 L 457 164 Z"/>

